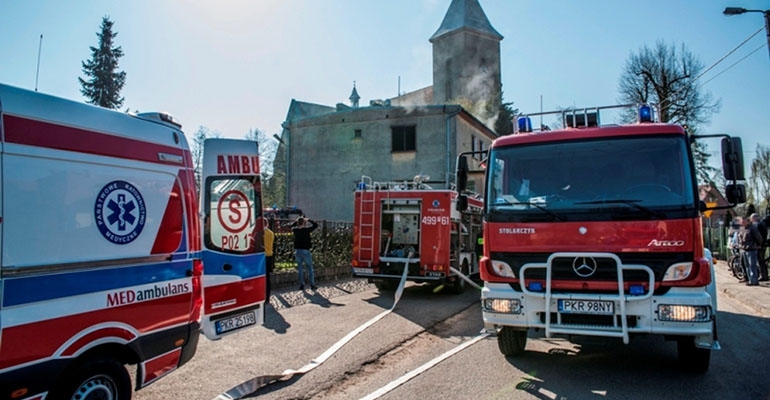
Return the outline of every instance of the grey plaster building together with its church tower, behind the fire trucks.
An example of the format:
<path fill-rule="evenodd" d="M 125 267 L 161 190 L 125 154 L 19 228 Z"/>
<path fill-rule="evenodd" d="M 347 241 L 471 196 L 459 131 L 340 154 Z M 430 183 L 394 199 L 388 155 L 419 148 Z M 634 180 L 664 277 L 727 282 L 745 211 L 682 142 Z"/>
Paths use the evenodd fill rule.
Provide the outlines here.
<path fill-rule="evenodd" d="M 433 85 L 359 106 L 292 100 L 273 162 L 286 206 L 317 220 L 353 220 L 362 177 L 451 188 L 459 153 L 485 150 L 502 102 L 500 41 L 478 0 L 452 0 L 433 46 Z M 471 168 L 478 168 L 476 165 Z M 478 190 L 482 182 L 472 182 Z"/>

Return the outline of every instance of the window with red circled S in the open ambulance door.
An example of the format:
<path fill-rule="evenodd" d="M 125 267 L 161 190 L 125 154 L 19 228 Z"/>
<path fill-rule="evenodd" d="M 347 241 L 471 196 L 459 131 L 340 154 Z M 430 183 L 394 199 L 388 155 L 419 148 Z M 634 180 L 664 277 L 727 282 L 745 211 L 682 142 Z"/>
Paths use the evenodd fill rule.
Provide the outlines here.
<path fill-rule="evenodd" d="M 258 178 L 211 177 L 206 185 L 206 247 L 226 253 L 253 253 L 261 249 Z"/>

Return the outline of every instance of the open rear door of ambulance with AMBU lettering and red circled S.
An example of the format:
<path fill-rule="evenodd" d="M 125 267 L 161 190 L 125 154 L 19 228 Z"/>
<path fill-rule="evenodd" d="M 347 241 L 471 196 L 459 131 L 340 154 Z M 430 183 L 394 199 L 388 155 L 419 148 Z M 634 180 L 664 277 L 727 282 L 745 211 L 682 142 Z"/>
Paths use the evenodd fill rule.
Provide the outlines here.
<path fill-rule="evenodd" d="M 257 142 L 204 141 L 200 204 L 201 329 L 214 340 L 263 323 L 265 253 Z"/>

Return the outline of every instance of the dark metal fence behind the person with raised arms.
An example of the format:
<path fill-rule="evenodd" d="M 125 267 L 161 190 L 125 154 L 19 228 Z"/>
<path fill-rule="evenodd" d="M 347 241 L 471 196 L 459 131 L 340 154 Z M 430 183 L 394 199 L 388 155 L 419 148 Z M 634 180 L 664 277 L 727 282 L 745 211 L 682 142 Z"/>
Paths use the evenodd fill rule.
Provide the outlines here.
<path fill-rule="evenodd" d="M 294 235 L 291 224 L 294 219 L 272 220 L 275 233 L 273 256 L 276 270 L 297 266 L 294 260 Z M 316 221 L 318 228 L 311 234 L 313 266 L 315 268 L 348 267 L 353 258 L 353 223 L 340 221 Z"/>

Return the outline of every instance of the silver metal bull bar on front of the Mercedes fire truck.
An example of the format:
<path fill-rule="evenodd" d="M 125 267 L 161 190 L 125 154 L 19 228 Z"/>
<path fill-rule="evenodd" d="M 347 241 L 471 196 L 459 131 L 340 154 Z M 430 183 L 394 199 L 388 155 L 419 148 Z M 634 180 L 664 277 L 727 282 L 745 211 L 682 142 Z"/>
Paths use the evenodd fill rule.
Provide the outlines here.
<path fill-rule="evenodd" d="M 586 257 L 586 258 L 593 258 L 593 259 L 600 259 L 600 258 L 609 258 L 615 261 L 615 265 L 617 268 L 617 277 L 618 277 L 618 293 L 617 294 L 592 294 L 592 293 L 553 293 L 551 290 L 552 286 L 552 266 L 553 261 L 557 258 L 576 258 L 576 257 Z M 545 293 L 542 292 L 533 292 L 527 288 L 526 284 L 526 272 L 528 270 L 532 269 L 545 269 L 546 275 L 546 283 L 545 283 Z M 638 295 L 638 296 L 631 296 L 626 295 L 624 291 L 624 280 L 623 280 L 623 271 L 631 271 L 631 270 L 638 270 L 638 271 L 645 271 L 649 275 L 649 285 L 647 286 L 647 291 L 644 294 Z M 626 264 L 624 265 L 620 258 L 612 253 L 577 253 L 577 252 L 564 252 L 564 253 L 554 253 L 551 254 L 550 257 L 548 257 L 548 261 L 546 261 L 546 264 L 525 264 L 521 267 L 521 290 L 526 294 L 527 296 L 532 297 L 539 297 L 545 300 L 545 335 L 546 337 L 551 337 L 552 334 L 558 333 L 558 334 L 572 334 L 572 335 L 586 335 L 586 336 L 606 336 L 606 337 L 619 337 L 623 338 L 623 343 L 628 344 L 629 342 L 629 335 L 628 335 L 628 321 L 627 321 L 627 314 L 626 314 L 626 303 L 631 301 L 644 301 L 648 300 L 652 297 L 653 291 L 655 290 L 655 274 L 652 271 L 652 269 L 646 265 L 634 265 L 634 264 Z M 568 325 L 563 324 L 561 321 L 561 312 L 558 311 L 557 306 L 557 312 L 556 317 L 557 321 L 554 323 L 551 321 L 551 304 L 552 301 L 558 302 L 559 300 L 595 300 L 595 301 L 612 301 L 614 302 L 620 309 L 618 311 L 615 309 L 613 311 L 612 319 L 613 319 L 613 326 L 612 327 L 606 327 L 606 326 L 595 326 L 593 329 L 590 327 L 590 325 Z M 620 326 L 618 326 L 617 323 L 617 317 L 620 317 Z"/>

